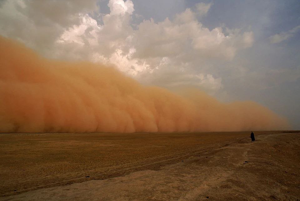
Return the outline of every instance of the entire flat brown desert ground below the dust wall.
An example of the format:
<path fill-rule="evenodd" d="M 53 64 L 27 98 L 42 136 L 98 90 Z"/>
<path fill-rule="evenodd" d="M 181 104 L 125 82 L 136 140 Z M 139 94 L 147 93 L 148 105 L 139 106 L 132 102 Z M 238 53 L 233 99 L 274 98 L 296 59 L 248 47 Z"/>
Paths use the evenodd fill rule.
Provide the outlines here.
<path fill-rule="evenodd" d="M 300 133 L 255 134 L 0 135 L 0 200 L 299 200 Z"/>

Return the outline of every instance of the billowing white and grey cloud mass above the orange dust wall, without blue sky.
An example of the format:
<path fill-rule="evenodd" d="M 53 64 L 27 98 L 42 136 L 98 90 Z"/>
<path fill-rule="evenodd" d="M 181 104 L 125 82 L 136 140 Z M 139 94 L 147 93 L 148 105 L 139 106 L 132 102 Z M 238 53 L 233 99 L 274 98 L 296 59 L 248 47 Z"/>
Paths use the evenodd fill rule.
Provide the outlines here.
<path fill-rule="evenodd" d="M 45 3 L 5 2 L 0 33 L 47 57 L 113 64 L 146 84 L 217 91 L 222 78 L 209 70 L 209 62 L 230 61 L 254 40 L 251 31 L 204 27 L 197 17 L 204 17 L 212 3 L 197 3 L 172 19 L 144 20 L 134 28 L 131 0 L 110 0 L 108 14 L 97 13 L 95 1 Z"/>

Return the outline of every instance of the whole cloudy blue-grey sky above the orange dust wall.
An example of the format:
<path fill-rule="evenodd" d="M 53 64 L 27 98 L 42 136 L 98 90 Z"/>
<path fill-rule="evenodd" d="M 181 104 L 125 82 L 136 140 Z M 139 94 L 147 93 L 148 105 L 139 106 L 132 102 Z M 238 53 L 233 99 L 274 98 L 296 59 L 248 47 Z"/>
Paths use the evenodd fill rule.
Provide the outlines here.
<path fill-rule="evenodd" d="M 0 35 L 144 85 L 253 100 L 300 129 L 299 13 L 297 0 L 1 1 Z"/>

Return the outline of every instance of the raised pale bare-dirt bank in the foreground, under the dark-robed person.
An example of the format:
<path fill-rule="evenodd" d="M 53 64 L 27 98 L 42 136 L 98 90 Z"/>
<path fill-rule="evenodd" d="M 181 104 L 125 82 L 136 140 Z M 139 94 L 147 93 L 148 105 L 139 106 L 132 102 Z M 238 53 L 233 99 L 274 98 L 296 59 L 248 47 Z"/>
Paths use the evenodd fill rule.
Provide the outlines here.
<path fill-rule="evenodd" d="M 43 188 L 0 200 L 299 200 L 300 134 L 256 138 L 254 143 L 244 138 L 187 155 L 158 170 Z"/>

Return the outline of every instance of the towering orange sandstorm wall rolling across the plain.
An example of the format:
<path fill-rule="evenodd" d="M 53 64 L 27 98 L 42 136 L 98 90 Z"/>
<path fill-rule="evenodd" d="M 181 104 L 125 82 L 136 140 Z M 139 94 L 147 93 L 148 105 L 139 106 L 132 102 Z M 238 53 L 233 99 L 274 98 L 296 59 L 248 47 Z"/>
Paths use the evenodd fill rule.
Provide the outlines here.
<path fill-rule="evenodd" d="M 114 68 L 47 60 L 0 37 L 0 132 L 277 130 L 284 118 L 252 101 L 220 103 L 148 87 Z"/>

